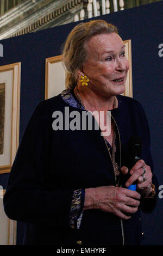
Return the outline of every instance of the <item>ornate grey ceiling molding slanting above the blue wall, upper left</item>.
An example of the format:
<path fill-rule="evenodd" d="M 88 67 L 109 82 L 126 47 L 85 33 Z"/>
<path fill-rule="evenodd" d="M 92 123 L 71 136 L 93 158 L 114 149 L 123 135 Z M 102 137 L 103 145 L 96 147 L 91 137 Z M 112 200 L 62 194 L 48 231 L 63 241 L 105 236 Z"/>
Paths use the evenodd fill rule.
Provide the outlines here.
<path fill-rule="evenodd" d="M 0 40 L 74 21 L 83 0 L 28 0 L 0 17 Z"/>

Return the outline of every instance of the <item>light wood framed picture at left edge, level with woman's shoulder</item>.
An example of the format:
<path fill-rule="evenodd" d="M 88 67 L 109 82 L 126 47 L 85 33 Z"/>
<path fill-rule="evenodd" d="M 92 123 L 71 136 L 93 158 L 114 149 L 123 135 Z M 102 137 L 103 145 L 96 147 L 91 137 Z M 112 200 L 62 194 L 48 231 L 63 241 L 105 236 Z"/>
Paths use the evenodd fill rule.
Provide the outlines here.
<path fill-rule="evenodd" d="M 21 63 L 0 66 L 0 173 L 10 172 L 19 143 Z"/>

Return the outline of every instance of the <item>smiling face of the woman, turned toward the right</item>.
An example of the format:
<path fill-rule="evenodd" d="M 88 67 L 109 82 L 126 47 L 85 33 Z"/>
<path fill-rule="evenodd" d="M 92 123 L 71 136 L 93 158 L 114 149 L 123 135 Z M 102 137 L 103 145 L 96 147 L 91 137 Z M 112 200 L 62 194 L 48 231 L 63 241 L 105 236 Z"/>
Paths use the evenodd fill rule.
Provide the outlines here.
<path fill-rule="evenodd" d="M 129 62 L 120 36 L 116 33 L 92 36 L 87 52 L 83 73 L 90 80 L 89 88 L 103 96 L 122 94 Z"/>

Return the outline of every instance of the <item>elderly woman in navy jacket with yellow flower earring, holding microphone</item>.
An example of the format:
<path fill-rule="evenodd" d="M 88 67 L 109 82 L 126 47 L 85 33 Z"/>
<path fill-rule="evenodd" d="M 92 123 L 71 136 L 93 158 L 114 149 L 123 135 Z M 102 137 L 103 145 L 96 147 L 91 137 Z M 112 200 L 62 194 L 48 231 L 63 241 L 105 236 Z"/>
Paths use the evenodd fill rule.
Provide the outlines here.
<path fill-rule="evenodd" d="M 68 89 L 36 107 L 11 169 L 5 212 L 26 223 L 26 245 L 138 245 L 140 206 L 151 212 L 155 191 L 145 113 L 121 96 L 129 69 L 125 45 L 103 20 L 80 23 L 68 35 L 63 59 Z M 82 123 L 70 129 L 66 120 L 74 111 L 80 121 L 86 111 L 104 118 L 92 113 L 92 129 Z M 56 113 L 65 115 L 58 129 Z M 143 147 L 129 169 L 131 136 L 141 137 Z M 129 190 L 135 181 L 137 191 Z"/>

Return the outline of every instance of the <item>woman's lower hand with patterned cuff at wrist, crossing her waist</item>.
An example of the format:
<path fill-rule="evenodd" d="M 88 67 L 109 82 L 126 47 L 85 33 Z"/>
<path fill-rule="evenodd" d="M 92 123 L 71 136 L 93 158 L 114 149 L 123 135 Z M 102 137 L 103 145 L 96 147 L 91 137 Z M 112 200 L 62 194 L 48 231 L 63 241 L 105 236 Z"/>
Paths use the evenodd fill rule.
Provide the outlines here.
<path fill-rule="evenodd" d="M 130 216 L 127 216 L 125 212 L 134 214 L 140 205 L 140 197 L 138 192 L 122 187 L 86 188 L 84 210 L 99 209 L 128 220 Z"/>

